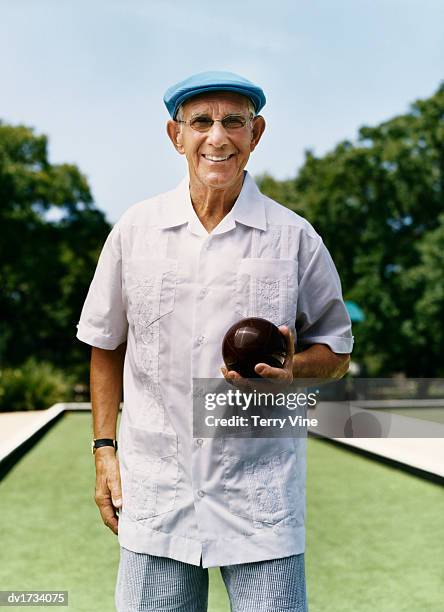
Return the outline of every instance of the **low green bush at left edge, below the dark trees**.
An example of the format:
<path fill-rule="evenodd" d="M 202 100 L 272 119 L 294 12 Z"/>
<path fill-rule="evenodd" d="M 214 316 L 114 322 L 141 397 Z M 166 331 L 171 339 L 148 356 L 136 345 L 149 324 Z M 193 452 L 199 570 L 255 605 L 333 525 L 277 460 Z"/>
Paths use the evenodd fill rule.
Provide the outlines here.
<path fill-rule="evenodd" d="M 0 370 L 0 412 L 42 410 L 70 401 L 74 381 L 51 363 L 30 357 L 19 368 Z"/>

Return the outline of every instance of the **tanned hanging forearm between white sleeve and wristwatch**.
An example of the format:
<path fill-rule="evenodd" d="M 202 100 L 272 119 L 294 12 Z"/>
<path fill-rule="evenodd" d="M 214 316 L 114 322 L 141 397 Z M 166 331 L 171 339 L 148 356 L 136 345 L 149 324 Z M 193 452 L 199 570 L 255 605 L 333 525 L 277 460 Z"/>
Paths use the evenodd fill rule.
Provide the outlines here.
<path fill-rule="evenodd" d="M 116 438 L 117 414 L 122 399 L 126 343 L 113 351 L 91 351 L 91 405 L 94 438 Z"/>

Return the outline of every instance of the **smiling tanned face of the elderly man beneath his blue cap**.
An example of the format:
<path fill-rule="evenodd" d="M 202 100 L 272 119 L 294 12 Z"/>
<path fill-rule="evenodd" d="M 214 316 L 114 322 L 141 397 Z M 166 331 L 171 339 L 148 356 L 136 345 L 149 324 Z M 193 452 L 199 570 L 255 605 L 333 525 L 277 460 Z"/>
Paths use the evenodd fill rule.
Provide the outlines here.
<path fill-rule="evenodd" d="M 225 129 L 217 121 L 207 132 L 194 130 L 189 121 L 196 116 L 223 119 L 241 115 L 245 127 Z M 229 189 L 242 184 L 243 170 L 265 128 L 263 117 L 250 120 L 248 100 L 230 92 L 205 93 L 188 100 L 181 119 L 187 124 L 168 122 L 168 134 L 188 162 L 191 182 L 210 189 Z"/>

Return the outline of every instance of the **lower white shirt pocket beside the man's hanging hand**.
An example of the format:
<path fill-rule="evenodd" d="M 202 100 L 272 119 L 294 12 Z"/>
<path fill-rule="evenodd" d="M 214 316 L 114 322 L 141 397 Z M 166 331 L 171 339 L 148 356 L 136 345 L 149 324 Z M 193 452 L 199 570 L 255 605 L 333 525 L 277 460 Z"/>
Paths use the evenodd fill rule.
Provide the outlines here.
<path fill-rule="evenodd" d="M 129 427 L 128 486 L 123 504 L 135 520 L 173 510 L 178 483 L 177 436 Z"/>

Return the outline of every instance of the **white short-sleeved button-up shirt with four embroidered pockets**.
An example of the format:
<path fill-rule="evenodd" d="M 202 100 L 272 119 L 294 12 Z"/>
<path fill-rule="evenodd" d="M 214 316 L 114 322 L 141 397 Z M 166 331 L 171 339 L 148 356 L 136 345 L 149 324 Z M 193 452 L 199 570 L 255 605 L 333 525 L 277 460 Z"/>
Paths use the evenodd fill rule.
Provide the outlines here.
<path fill-rule="evenodd" d="M 193 379 L 222 377 L 224 334 L 250 316 L 288 325 L 297 350 L 352 350 L 322 239 L 247 172 L 211 233 L 188 177 L 130 207 L 112 229 L 77 337 L 109 350 L 127 342 L 122 546 L 203 567 L 304 551 L 306 440 L 193 438 Z"/>

